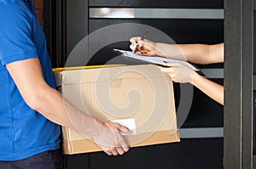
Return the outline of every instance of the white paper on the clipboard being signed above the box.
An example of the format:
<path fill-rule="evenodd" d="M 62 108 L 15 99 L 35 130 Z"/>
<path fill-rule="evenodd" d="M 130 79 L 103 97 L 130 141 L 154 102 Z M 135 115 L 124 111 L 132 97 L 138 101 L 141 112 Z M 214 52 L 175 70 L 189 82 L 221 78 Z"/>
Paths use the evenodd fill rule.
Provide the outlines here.
<path fill-rule="evenodd" d="M 139 59 L 139 60 L 143 60 L 152 64 L 156 64 L 156 65 L 166 65 L 166 63 L 180 63 L 183 65 L 187 65 L 189 66 L 189 68 L 191 68 L 192 70 L 195 71 L 199 71 L 199 69 L 195 68 L 194 65 L 189 64 L 189 62 L 183 61 L 183 60 L 178 60 L 178 59 L 169 59 L 169 58 L 163 58 L 163 57 L 159 57 L 159 56 L 141 56 L 138 54 L 134 54 L 131 51 L 126 51 L 126 50 L 121 50 L 121 49 L 116 49 L 113 48 L 114 51 L 117 51 L 121 54 L 123 54 L 124 56 L 128 57 L 128 58 L 132 58 L 132 59 Z"/>

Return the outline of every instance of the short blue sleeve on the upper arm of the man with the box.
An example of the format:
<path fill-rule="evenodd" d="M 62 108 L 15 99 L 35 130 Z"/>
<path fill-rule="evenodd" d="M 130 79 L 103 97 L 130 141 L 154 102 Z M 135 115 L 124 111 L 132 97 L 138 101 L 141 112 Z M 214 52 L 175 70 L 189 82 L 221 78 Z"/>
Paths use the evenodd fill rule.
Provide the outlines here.
<path fill-rule="evenodd" d="M 24 3 L 0 4 L 0 61 L 2 65 L 37 58 L 32 41 L 32 13 Z"/>

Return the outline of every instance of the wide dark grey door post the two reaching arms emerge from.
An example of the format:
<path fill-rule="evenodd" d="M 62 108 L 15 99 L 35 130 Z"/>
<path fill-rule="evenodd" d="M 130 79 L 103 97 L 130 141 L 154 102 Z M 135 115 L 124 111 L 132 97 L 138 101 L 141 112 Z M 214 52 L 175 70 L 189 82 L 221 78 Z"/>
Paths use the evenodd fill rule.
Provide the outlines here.
<path fill-rule="evenodd" d="M 224 1 L 224 168 L 226 169 L 241 168 L 241 3 L 242 0 Z M 236 78 L 232 75 L 236 75 Z"/>

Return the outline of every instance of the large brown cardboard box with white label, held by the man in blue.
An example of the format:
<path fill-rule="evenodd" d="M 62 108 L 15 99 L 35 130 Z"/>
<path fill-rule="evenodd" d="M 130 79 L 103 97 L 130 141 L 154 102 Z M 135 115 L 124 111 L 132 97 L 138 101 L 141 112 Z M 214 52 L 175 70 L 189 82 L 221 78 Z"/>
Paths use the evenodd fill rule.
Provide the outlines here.
<path fill-rule="evenodd" d="M 172 80 L 156 65 L 63 70 L 55 72 L 55 81 L 84 113 L 102 121 L 128 121 L 134 130 L 124 136 L 130 147 L 180 141 Z M 62 133 L 64 154 L 102 150 L 73 129 L 62 127 Z"/>

